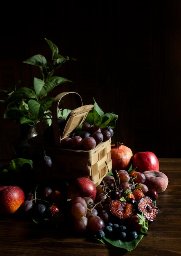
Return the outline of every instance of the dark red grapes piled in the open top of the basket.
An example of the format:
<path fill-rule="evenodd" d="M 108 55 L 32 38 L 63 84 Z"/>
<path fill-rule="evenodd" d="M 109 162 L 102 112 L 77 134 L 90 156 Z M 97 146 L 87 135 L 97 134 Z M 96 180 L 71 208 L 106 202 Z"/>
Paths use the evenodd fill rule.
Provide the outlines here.
<path fill-rule="evenodd" d="M 75 148 L 79 150 L 91 150 L 103 141 L 109 140 L 114 134 L 110 127 L 100 128 L 99 126 L 91 126 L 88 123 L 83 124 L 79 135 L 73 138 L 67 137 L 62 139 L 63 148 Z"/>

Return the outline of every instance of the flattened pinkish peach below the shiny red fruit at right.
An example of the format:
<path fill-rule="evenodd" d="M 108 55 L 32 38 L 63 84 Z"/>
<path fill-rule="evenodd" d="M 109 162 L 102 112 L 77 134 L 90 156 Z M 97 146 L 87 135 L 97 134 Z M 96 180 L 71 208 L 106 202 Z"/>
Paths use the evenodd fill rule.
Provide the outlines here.
<path fill-rule="evenodd" d="M 144 184 L 148 189 L 155 190 L 157 193 L 165 191 L 168 186 L 168 177 L 161 171 L 144 171 L 146 177 Z"/>

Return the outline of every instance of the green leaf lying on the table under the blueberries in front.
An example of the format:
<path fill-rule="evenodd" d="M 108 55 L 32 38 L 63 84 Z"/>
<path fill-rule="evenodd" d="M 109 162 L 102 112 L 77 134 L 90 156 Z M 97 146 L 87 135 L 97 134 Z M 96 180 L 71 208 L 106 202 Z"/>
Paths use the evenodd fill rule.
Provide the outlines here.
<path fill-rule="evenodd" d="M 132 251 L 139 244 L 139 242 L 141 241 L 143 236 L 144 235 L 139 235 L 138 238 L 136 238 L 132 241 L 129 241 L 129 242 L 123 242 L 121 240 L 112 240 L 112 239 L 107 238 L 107 237 L 104 237 L 103 239 L 98 239 L 98 240 L 103 244 L 110 244 L 110 245 L 113 245 L 115 247 L 126 249 L 127 251 Z"/>

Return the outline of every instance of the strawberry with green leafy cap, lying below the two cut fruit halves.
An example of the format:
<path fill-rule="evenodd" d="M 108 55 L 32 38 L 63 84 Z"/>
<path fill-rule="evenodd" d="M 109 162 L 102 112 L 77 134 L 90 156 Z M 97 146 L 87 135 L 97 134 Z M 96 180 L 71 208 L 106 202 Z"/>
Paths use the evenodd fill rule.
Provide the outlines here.
<path fill-rule="evenodd" d="M 132 231 L 141 232 L 147 234 L 148 221 L 145 220 L 144 215 L 139 213 L 127 218 L 127 225 Z"/>

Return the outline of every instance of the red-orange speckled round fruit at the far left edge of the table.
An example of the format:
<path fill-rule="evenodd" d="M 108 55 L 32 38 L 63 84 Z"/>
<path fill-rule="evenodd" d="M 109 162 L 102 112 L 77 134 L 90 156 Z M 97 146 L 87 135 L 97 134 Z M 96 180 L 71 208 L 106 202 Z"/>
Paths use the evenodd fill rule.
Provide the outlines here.
<path fill-rule="evenodd" d="M 15 213 L 25 200 L 25 193 L 19 186 L 3 186 L 0 189 L 0 213 Z M 1 187 L 2 188 L 2 187 Z"/>

